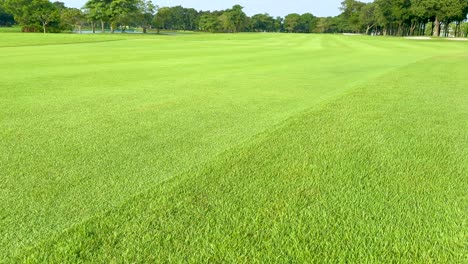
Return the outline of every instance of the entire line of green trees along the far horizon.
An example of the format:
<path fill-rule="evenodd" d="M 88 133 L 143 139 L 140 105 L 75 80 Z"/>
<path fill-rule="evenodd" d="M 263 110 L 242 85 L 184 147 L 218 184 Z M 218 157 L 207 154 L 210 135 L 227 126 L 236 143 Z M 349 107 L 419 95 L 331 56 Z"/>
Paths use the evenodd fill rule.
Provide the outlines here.
<path fill-rule="evenodd" d="M 88 0 L 81 9 L 49 0 L 0 0 L 0 26 L 24 32 L 125 32 L 129 28 L 205 32 L 360 33 L 372 35 L 467 36 L 468 0 L 344 0 L 341 14 L 311 13 L 248 16 L 235 5 L 218 11 L 158 7 L 151 0 Z"/>

